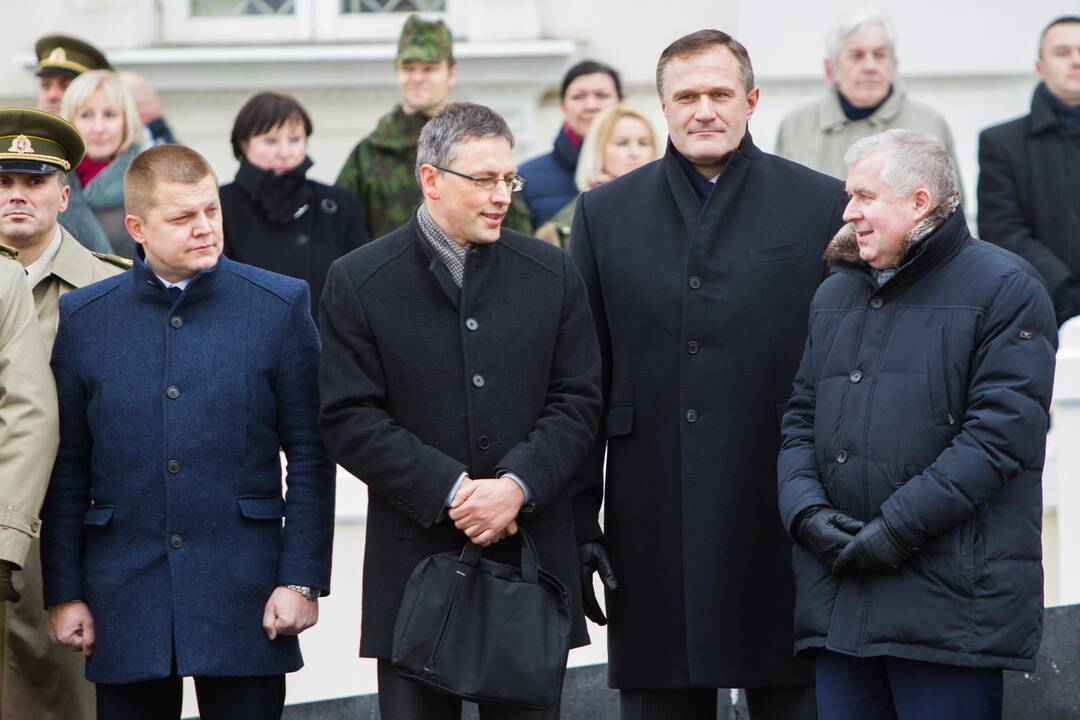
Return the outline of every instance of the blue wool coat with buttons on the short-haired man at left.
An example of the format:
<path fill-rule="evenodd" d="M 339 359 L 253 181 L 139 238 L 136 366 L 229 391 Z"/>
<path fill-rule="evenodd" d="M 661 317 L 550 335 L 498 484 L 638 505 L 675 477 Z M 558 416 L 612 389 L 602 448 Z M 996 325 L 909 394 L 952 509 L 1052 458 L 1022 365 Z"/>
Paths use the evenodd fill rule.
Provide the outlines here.
<path fill-rule="evenodd" d="M 302 665 L 261 619 L 278 585 L 329 589 L 318 368 L 307 285 L 225 257 L 175 302 L 141 260 L 60 299 L 44 600 L 90 606 L 87 679 Z"/>

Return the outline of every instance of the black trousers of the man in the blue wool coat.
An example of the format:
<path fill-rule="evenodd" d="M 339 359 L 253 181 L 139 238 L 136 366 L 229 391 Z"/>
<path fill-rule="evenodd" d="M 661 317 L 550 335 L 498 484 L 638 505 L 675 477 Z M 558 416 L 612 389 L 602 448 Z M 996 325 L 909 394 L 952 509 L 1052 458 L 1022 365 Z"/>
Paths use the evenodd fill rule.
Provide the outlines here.
<path fill-rule="evenodd" d="M 201 720 L 280 720 L 285 676 L 195 678 Z M 97 720 L 179 720 L 184 684 L 171 676 L 146 682 L 97 684 Z"/>

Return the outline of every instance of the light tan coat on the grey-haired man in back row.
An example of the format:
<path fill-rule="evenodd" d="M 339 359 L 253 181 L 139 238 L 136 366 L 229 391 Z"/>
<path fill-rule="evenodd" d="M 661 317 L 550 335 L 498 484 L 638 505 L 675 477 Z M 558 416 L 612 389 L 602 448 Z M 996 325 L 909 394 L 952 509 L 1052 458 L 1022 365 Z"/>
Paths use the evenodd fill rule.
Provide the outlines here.
<path fill-rule="evenodd" d="M 845 179 L 848 167 L 843 153 L 855 140 L 894 127 L 918 130 L 945 144 L 956 163 L 953 133 L 942 113 L 907 97 L 903 85 L 893 85 L 892 95 L 869 118 L 848 120 L 840 108 L 836 89 L 810 105 L 796 108 L 784 117 L 777 135 L 775 154 L 812 167 L 819 173 Z"/>

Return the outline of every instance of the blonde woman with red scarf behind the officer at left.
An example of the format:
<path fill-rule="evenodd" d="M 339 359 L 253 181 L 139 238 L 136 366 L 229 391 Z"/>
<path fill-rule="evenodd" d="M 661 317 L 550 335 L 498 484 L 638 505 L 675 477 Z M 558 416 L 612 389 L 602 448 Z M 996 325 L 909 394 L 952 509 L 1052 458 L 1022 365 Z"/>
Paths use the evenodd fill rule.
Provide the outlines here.
<path fill-rule="evenodd" d="M 124 229 L 124 172 L 139 152 L 143 123 L 111 70 L 84 72 L 68 85 L 60 114 L 82 135 L 86 157 L 68 174 L 71 195 L 59 220 L 92 250 L 132 256 Z"/>

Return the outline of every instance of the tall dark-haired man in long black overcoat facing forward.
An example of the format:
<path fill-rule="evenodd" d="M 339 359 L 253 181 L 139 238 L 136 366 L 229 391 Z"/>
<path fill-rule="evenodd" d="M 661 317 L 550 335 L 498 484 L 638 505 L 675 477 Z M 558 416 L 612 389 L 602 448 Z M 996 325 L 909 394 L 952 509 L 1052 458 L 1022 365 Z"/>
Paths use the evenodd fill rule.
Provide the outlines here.
<path fill-rule="evenodd" d="M 657 80 L 666 155 L 584 193 L 571 246 L 604 369 L 575 520 L 594 548 L 606 449 L 609 681 L 624 720 L 715 718 L 717 688 L 748 689 L 755 720 L 812 718 L 773 478 L 846 199 L 838 180 L 754 146 L 759 93 L 727 33 L 675 41 Z"/>

